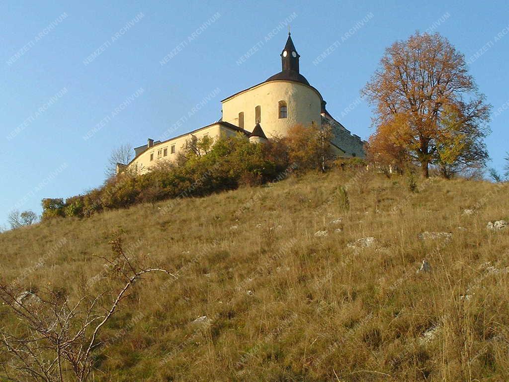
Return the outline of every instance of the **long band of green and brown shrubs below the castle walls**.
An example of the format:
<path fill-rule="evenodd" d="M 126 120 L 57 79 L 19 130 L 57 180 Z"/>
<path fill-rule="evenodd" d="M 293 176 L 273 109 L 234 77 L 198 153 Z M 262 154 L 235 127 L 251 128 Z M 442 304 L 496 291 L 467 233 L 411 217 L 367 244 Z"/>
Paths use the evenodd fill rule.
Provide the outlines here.
<path fill-rule="evenodd" d="M 68 198 L 65 203 L 62 199 L 45 199 L 42 217 L 43 220 L 54 216 L 83 217 L 135 203 L 201 197 L 241 185 L 280 180 L 300 166 L 321 168 L 323 145 L 322 139 L 317 138 L 322 137 L 320 134 L 323 130 L 312 126 L 296 128 L 290 142 L 275 138 L 264 144 L 252 144 L 240 136 L 219 139 L 214 144 L 197 142 L 177 162 L 161 162 L 146 174 L 124 171 L 107 179 L 102 187 Z M 307 143 L 306 147 L 314 147 L 310 153 L 297 147 L 306 139 L 315 140 Z"/>

